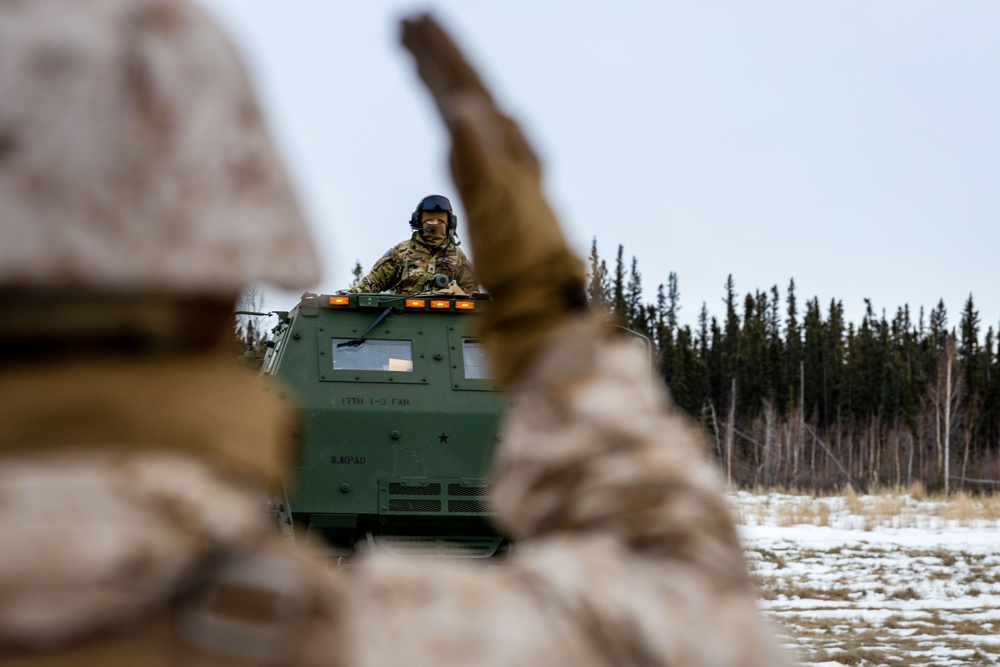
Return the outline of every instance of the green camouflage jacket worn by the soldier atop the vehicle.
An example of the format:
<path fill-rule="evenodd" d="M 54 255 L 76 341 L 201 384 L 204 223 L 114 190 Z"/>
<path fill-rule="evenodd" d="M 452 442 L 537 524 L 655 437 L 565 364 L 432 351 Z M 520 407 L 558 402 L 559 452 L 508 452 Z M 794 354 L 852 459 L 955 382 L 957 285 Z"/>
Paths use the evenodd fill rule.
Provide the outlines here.
<path fill-rule="evenodd" d="M 435 273 L 448 276 L 469 294 L 479 291 L 472 263 L 460 248 L 450 241 L 432 248 L 421 240 L 419 232 L 414 232 L 408 240 L 389 248 L 368 275 L 348 292 L 392 290 L 397 294 L 415 294 L 426 289 L 427 279 Z"/>

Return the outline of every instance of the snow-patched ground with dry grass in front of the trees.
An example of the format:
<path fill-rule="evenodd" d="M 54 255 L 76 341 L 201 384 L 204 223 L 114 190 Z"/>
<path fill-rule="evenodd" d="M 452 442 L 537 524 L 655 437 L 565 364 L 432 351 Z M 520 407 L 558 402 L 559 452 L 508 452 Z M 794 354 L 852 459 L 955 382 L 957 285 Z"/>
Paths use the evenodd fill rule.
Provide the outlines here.
<path fill-rule="evenodd" d="M 1000 500 L 730 495 L 804 665 L 1000 665 Z"/>

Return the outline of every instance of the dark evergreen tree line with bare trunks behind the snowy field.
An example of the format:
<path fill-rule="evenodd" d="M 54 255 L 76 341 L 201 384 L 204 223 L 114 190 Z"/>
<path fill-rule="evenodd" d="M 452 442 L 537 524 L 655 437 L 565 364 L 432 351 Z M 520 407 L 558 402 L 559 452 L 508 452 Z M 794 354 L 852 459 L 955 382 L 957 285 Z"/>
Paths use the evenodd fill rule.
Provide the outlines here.
<path fill-rule="evenodd" d="M 889 318 L 871 301 L 860 323 L 843 303 L 739 295 L 725 283 L 721 318 L 703 303 L 681 325 L 676 273 L 644 302 L 635 257 L 614 269 L 591 245 L 588 298 L 652 342 L 674 402 L 709 434 L 726 477 L 741 486 L 833 490 L 911 486 L 1000 490 L 997 332 L 982 332 L 972 295 L 955 326 L 939 301 Z"/>

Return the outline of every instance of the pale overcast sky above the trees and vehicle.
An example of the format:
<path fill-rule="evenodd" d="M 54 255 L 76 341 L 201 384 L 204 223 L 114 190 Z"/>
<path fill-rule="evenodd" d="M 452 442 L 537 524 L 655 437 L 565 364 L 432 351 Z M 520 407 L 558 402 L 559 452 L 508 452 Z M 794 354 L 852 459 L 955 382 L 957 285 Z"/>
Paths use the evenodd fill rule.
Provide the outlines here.
<path fill-rule="evenodd" d="M 944 299 L 954 326 L 970 292 L 1000 324 L 1000 2 L 203 1 L 251 63 L 319 291 L 424 195 L 457 200 L 398 45 L 430 9 L 529 134 L 574 247 L 613 265 L 622 244 L 649 301 L 676 272 L 682 323 L 721 319 L 732 274 L 856 324 L 865 298 L 914 320 Z"/>

